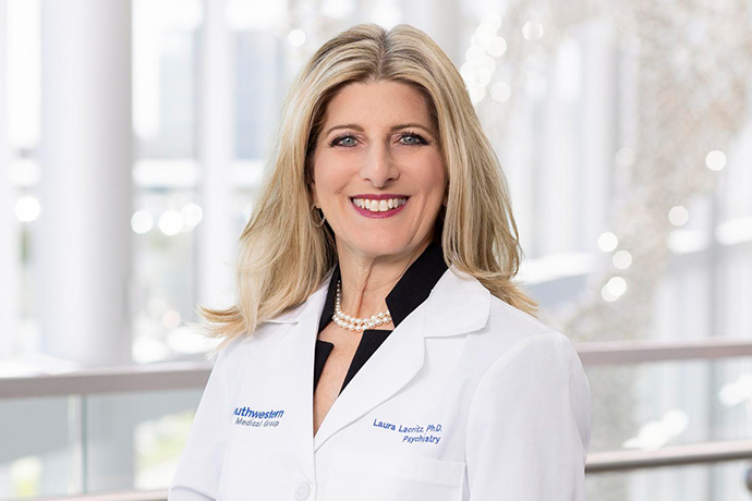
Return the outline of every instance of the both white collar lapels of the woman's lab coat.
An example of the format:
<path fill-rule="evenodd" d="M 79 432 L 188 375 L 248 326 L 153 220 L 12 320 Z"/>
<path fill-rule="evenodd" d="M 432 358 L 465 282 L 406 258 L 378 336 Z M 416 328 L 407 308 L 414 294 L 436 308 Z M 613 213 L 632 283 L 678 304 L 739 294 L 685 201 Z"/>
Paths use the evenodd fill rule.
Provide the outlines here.
<path fill-rule="evenodd" d="M 296 323 L 270 352 L 267 362 L 275 371 L 286 375 L 276 381 L 280 394 L 289 398 L 284 403 L 291 411 L 288 415 L 296 417 L 291 425 L 307 452 L 318 450 L 337 431 L 408 384 L 423 367 L 426 338 L 461 335 L 480 330 L 488 321 L 490 311 L 488 290 L 473 277 L 450 266 L 428 298 L 395 328 L 348 383 L 314 438 L 314 353 L 327 288 L 328 280 L 325 280 L 305 303 L 269 320 Z"/>

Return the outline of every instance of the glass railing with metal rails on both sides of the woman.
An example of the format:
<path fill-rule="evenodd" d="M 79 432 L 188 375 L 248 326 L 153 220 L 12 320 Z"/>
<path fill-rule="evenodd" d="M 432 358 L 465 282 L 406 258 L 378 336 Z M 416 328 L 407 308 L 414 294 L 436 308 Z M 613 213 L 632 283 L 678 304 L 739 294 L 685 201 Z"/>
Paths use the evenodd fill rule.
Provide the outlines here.
<path fill-rule="evenodd" d="M 752 342 L 578 351 L 593 402 L 589 499 L 749 498 Z M 0 500 L 166 499 L 209 370 L 175 363 L 0 379 Z"/>

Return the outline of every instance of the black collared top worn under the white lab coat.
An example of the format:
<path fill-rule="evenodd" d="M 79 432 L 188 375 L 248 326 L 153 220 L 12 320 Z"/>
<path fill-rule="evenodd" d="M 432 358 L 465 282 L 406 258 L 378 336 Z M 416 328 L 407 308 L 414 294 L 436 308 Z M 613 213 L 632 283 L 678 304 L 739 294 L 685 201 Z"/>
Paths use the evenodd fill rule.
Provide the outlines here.
<path fill-rule="evenodd" d="M 444 253 L 441 245 L 432 242 L 423 250 L 417 259 L 405 270 L 404 274 L 395 284 L 395 288 L 386 297 L 387 307 L 391 314 L 391 321 L 395 327 L 399 326 L 421 303 L 423 303 L 430 294 L 432 289 L 436 282 L 441 278 L 447 270 L 447 264 L 444 262 Z M 327 292 L 326 303 L 322 311 L 322 319 L 318 323 L 318 333 L 320 334 L 324 328 L 331 321 L 331 316 L 335 314 L 335 296 L 337 294 L 337 281 L 339 280 L 339 265 L 335 265 L 335 271 L 329 280 L 329 290 Z M 361 343 L 357 345 L 355 355 L 352 358 L 350 368 L 348 369 L 342 388 L 339 392 L 342 393 L 348 382 L 355 376 L 355 374 L 368 361 L 371 355 L 381 345 L 381 343 L 391 333 L 390 330 L 384 329 L 366 329 L 363 331 Z M 316 340 L 316 359 L 314 364 L 314 390 L 318 384 L 318 379 L 324 370 L 329 353 L 335 347 L 333 343 L 328 341 Z"/>

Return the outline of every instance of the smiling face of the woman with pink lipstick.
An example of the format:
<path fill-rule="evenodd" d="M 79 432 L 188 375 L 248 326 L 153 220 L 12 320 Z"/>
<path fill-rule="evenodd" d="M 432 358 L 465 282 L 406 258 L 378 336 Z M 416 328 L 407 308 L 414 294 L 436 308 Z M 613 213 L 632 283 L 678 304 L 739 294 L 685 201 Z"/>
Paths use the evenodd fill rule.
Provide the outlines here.
<path fill-rule="evenodd" d="M 340 253 L 395 256 L 427 244 L 446 175 L 423 96 L 396 82 L 343 87 L 326 109 L 313 180 Z"/>

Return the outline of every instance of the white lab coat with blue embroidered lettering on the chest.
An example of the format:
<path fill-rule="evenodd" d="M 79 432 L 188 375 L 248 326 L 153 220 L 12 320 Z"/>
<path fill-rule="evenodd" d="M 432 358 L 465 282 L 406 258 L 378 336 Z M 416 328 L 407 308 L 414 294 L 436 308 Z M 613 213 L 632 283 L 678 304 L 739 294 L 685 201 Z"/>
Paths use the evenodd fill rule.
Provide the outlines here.
<path fill-rule="evenodd" d="M 169 501 L 583 501 L 571 342 L 451 266 L 313 435 L 328 280 L 219 354 Z"/>

